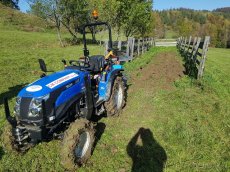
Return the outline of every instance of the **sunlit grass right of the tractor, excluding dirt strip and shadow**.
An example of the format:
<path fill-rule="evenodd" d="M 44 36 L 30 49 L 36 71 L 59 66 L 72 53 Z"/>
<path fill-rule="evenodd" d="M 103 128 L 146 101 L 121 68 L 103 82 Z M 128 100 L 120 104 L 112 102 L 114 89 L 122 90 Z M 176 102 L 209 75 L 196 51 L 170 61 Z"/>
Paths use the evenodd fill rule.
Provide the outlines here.
<path fill-rule="evenodd" d="M 144 62 L 148 63 L 153 54 L 155 50 L 129 64 L 127 69 L 132 73 Z M 150 90 L 132 92 L 122 116 L 105 120 L 106 132 L 91 159 L 93 165 L 86 167 L 87 171 L 129 171 L 132 160 L 126 153 L 127 145 L 141 127 L 153 133 L 154 145 L 147 147 L 147 151 L 157 148 L 152 153 L 157 154 L 158 162 L 163 161 L 166 153 L 165 171 L 230 170 L 229 50 L 211 49 L 208 57 L 202 87 L 184 77 L 175 83 L 174 90 L 159 89 L 155 94 L 149 94 Z M 160 171 L 154 154 L 146 153 L 142 157 L 146 166 L 140 171 L 154 171 L 150 166 Z"/>

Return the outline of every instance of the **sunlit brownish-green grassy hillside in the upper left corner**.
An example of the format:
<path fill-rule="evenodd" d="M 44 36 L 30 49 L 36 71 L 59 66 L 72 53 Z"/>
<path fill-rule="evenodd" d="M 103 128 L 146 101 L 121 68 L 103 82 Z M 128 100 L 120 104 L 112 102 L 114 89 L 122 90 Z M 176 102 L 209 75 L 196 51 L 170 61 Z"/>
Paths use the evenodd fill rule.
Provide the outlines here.
<path fill-rule="evenodd" d="M 52 28 L 45 20 L 6 7 L 0 3 L 0 25 L 29 32 L 43 32 Z"/>

